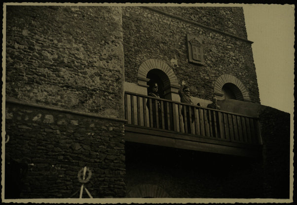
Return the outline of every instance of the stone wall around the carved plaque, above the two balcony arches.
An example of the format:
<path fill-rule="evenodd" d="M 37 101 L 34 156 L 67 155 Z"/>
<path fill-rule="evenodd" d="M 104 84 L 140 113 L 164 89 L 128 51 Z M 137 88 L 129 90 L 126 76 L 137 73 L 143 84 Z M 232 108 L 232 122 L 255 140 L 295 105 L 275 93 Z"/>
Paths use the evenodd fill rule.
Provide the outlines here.
<path fill-rule="evenodd" d="M 200 28 L 144 7 L 123 7 L 122 10 L 126 82 L 137 83 L 137 72 L 142 62 L 147 59 L 160 59 L 173 69 L 179 82 L 185 80 L 194 97 L 210 100 L 218 77 L 231 74 L 244 84 L 252 102 L 260 103 L 250 43 Z M 241 10 L 235 10 L 233 22 L 242 21 L 241 24 L 243 24 Z M 173 11 L 175 11 L 174 14 L 180 14 L 178 16 L 183 18 L 182 14 L 185 11 L 170 8 L 170 12 Z M 225 9 L 222 12 L 226 12 Z M 206 15 L 205 18 L 208 16 Z M 229 22 L 226 19 L 225 21 Z M 240 30 L 243 28 L 240 28 L 233 27 L 238 32 L 242 32 Z M 187 33 L 201 37 L 205 65 L 188 63 Z"/>

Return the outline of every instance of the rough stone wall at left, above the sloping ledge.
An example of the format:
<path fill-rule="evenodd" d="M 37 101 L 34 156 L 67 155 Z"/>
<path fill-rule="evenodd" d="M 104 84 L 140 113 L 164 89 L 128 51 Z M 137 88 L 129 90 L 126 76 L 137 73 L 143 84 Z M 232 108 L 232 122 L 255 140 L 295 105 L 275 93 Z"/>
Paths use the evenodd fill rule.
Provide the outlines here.
<path fill-rule="evenodd" d="M 120 7 L 7 6 L 6 97 L 123 116 Z"/>

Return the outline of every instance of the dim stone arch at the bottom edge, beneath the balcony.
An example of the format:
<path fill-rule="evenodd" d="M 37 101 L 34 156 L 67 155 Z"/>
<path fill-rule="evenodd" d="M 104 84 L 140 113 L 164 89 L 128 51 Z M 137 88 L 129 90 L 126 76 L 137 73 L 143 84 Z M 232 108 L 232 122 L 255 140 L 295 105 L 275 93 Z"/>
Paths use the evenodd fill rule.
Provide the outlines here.
<path fill-rule="evenodd" d="M 134 186 L 126 198 L 170 198 L 170 196 L 157 185 L 142 184 Z"/>

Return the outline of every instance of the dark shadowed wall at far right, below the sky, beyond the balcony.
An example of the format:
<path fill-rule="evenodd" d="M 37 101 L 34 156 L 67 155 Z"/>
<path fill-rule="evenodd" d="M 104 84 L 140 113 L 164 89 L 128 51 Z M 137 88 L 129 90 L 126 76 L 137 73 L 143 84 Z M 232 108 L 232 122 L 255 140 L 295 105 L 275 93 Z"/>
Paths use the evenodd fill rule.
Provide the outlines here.
<path fill-rule="evenodd" d="M 262 106 L 259 114 L 267 196 L 289 198 L 290 114 Z"/>

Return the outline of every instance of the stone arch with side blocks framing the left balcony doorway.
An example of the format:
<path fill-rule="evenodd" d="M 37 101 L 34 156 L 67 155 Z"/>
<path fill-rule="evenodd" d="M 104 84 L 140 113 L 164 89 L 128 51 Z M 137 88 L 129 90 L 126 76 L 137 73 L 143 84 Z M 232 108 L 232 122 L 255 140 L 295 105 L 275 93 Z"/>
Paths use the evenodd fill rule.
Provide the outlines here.
<path fill-rule="evenodd" d="M 178 79 L 173 70 L 169 67 L 167 63 L 158 59 L 148 59 L 139 66 L 137 74 L 137 83 L 139 86 L 147 87 L 147 82 L 149 80 L 147 79 L 148 71 L 155 68 L 162 70 L 168 76 L 168 80 L 164 82 L 165 88 L 179 87 Z"/>

